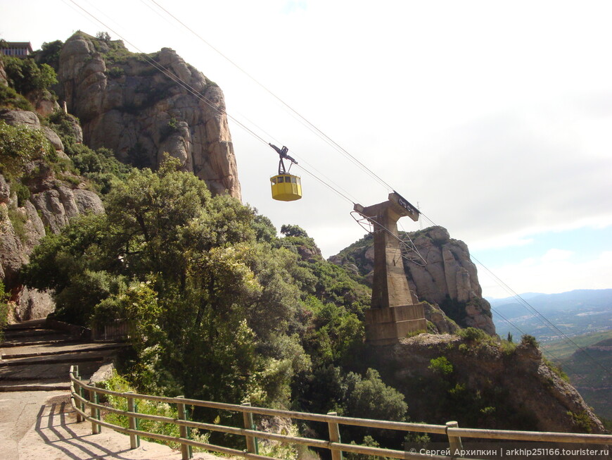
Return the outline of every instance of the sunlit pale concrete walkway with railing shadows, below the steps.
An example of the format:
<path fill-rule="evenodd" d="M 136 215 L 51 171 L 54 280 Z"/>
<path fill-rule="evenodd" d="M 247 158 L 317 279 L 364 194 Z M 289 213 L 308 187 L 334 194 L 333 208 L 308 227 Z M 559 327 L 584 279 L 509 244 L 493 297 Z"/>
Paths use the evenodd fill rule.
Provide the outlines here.
<path fill-rule="evenodd" d="M 0 393 L 0 458 L 6 460 L 180 460 L 170 447 L 141 440 L 129 449 L 129 437 L 102 428 L 91 434 L 91 423 L 77 423 L 70 393 Z M 219 460 L 194 454 L 194 460 Z"/>

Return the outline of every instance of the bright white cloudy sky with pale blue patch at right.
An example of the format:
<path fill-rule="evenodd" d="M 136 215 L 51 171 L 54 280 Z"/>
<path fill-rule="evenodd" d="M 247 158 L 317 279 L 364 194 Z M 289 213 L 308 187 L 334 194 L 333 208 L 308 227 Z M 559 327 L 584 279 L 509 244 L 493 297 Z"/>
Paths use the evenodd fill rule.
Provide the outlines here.
<path fill-rule="evenodd" d="M 426 216 L 400 230 L 447 228 L 499 298 L 612 287 L 611 17 L 588 0 L 0 0 L 0 38 L 176 50 L 224 92 L 243 202 L 328 257 L 364 235 L 353 203 L 395 189 Z M 277 155 L 241 124 L 288 147 L 302 199 L 272 200 Z"/>

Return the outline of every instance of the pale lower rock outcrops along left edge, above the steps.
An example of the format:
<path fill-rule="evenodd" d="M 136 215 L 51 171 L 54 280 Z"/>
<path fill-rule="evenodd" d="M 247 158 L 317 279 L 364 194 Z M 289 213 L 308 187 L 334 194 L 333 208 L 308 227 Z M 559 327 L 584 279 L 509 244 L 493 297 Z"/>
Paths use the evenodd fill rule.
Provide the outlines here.
<path fill-rule="evenodd" d="M 8 125 L 41 130 L 58 155 L 65 156 L 58 135 L 42 127 L 36 113 L 4 109 L 0 111 L 0 120 Z M 11 292 L 14 304 L 11 321 L 44 318 L 53 311 L 47 292 L 28 289 L 18 281 L 21 266 L 29 261 L 46 229 L 58 232 L 74 216 L 104 210 L 100 197 L 85 188 L 86 183 L 79 176 L 66 173 L 72 180 L 60 180 L 42 161 L 28 163 L 25 175 L 27 180 L 23 183 L 30 191 L 30 198 L 21 204 L 6 178 L 0 175 L 0 278 Z"/>

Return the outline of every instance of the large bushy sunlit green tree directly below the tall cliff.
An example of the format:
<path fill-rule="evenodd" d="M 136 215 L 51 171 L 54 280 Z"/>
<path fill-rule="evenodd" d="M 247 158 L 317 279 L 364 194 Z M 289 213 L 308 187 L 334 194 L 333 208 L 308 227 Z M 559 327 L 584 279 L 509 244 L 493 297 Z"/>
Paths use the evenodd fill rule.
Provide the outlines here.
<path fill-rule="evenodd" d="M 310 365 L 293 333 L 295 259 L 257 242 L 252 209 L 177 167 L 134 170 L 106 215 L 46 237 L 23 277 L 53 289 L 73 322 L 131 320 L 142 388 L 288 404 L 293 373 Z"/>

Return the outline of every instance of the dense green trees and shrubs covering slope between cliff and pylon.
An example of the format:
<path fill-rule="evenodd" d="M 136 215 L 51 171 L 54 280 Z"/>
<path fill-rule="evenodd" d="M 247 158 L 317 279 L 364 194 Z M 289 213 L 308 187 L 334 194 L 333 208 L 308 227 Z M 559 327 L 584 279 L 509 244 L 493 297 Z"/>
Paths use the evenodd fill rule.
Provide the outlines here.
<path fill-rule="evenodd" d="M 303 230 L 277 238 L 171 158 L 115 182 L 105 204 L 47 236 L 23 280 L 54 290 L 59 319 L 129 319 L 124 366 L 139 390 L 404 418 L 376 371 L 349 371 L 369 290 L 320 256 L 303 260 L 305 246 L 317 252 Z"/>

